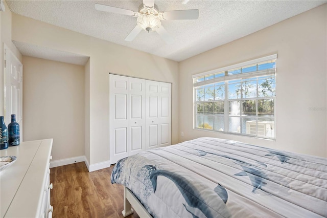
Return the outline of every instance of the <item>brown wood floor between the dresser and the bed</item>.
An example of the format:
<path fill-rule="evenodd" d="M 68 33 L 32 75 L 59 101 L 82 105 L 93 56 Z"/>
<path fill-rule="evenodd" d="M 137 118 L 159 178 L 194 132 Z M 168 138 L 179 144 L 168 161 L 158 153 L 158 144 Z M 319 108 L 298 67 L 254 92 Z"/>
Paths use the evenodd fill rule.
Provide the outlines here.
<path fill-rule="evenodd" d="M 111 184 L 112 168 L 88 172 L 84 162 L 51 168 L 53 217 L 123 217 L 124 189 Z"/>

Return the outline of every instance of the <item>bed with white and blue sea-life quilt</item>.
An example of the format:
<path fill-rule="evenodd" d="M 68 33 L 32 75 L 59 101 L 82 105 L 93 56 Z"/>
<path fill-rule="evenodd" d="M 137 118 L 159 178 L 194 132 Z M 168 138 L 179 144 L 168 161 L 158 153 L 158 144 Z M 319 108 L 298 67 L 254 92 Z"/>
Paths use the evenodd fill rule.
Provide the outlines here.
<path fill-rule="evenodd" d="M 327 217 L 327 159 L 198 138 L 118 161 L 124 216 Z"/>

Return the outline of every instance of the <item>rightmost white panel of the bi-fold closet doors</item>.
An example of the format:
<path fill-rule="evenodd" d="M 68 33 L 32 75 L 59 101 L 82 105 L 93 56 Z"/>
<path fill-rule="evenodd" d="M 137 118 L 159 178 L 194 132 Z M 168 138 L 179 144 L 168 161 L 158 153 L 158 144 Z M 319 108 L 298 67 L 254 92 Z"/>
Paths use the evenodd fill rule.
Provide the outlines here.
<path fill-rule="evenodd" d="M 158 145 L 171 145 L 171 83 L 159 82 Z"/>

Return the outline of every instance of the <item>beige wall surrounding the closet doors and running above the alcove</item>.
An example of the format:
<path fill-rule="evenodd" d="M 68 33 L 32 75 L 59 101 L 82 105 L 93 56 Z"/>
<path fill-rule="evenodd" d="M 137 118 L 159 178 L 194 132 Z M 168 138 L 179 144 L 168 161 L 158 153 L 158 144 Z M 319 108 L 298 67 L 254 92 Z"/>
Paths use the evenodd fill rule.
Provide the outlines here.
<path fill-rule="evenodd" d="M 90 57 L 89 72 L 84 72 L 89 85 L 84 96 L 89 164 L 109 160 L 109 72 L 172 83 L 172 143 L 178 142 L 178 62 L 17 14 L 12 15 L 12 22 L 13 40 Z"/>

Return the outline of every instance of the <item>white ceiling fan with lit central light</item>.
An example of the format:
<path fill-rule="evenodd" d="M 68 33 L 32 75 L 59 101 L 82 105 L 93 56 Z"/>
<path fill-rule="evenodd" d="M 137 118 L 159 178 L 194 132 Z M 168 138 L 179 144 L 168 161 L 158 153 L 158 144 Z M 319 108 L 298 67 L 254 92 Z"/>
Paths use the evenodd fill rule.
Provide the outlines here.
<path fill-rule="evenodd" d="M 161 20 L 197 19 L 199 17 L 198 9 L 159 12 L 159 10 L 155 8 L 154 0 L 143 0 L 143 4 L 139 6 L 138 12 L 100 4 L 95 4 L 95 8 L 98 11 L 137 17 L 137 25 L 128 34 L 125 41 L 132 41 L 139 32 L 145 30 L 147 32 L 156 31 L 167 44 L 171 44 L 174 40 L 161 25 Z"/>

